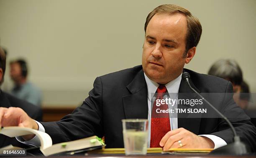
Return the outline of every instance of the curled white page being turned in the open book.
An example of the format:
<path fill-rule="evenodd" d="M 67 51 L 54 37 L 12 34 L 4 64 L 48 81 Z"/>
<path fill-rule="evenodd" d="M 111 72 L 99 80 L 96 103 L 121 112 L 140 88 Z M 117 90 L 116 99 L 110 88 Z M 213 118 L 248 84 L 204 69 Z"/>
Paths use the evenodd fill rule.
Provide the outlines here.
<path fill-rule="evenodd" d="M 38 130 L 33 130 L 31 128 L 18 127 L 18 126 L 3 127 L 2 130 L 0 130 L 0 133 L 8 137 L 18 137 L 23 135 L 35 134 L 36 136 L 38 136 L 40 140 L 40 143 L 41 143 L 40 149 L 42 150 L 52 145 L 51 137 L 47 133 L 44 133 Z"/>

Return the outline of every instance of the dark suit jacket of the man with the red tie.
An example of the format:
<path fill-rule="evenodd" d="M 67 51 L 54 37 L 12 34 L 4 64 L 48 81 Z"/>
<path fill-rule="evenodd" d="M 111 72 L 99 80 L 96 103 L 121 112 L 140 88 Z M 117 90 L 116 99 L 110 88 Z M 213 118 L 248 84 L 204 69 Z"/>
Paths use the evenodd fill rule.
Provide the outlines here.
<path fill-rule="evenodd" d="M 190 83 L 198 92 L 233 92 L 232 84 L 224 79 L 186 69 L 185 71 L 189 72 Z M 97 77 L 93 86 L 89 97 L 72 114 L 57 122 L 41 122 L 53 143 L 97 135 L 105 136 L 107 148 L 123 148 L 121 120 L 147 119 L 147 86 L 142 66 Z M 192 92 L 183 79 L 179 92 Z M 216 108 L 232 118 L 238 135 L 255 150 L 256 128 L 243 110 L 234 103 L 232 94 L 212 101 Z M 230 128 L 221 118 L 178 118 L 178 127 L 184 127 L 197 135 L 217 135 L 227 143 L 233 141 Z"/>

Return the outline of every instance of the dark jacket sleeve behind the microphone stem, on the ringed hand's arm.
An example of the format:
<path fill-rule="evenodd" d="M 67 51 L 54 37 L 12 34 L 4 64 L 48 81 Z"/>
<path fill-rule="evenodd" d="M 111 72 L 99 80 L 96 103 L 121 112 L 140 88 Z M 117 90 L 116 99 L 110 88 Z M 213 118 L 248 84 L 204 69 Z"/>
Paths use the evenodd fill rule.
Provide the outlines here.
<path fill-rule="evenodd" d="M 252 151 L 256 151 L 256 127 L 251 123 L 250 117 L 234 102 L 233 87 L 230 82 L 228 82 L 223 107 L 220 111 L 235 127 L 236 133 L 240 136 L 241 141 L 250 146 Z M 218 120 L 218 132 L 211 134 L 222 138 L 227 143 L 233 142 L 233 133 L 222 118 Z"/>

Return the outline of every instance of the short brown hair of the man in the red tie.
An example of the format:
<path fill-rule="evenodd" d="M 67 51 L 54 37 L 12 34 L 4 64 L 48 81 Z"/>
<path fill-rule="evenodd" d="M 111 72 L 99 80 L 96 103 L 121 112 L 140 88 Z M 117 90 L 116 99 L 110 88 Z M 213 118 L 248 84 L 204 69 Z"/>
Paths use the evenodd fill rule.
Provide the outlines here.
<path fill-rule="evenodd" d="M 174 13 L 181 13 L 187 18 L 186 49 L 183 55 L 184 57 L 186 57 L 187 51 L 190 48 L 197 46 L 202 34 L 202 26 L 200 24 L 200 21 L 196 17 L 192 16 L 192 14 L 187 9 L 172 4 L 160 5 L 148 14 L 144 30 L 146 33 L 148 23 L 154 15 Z"/>

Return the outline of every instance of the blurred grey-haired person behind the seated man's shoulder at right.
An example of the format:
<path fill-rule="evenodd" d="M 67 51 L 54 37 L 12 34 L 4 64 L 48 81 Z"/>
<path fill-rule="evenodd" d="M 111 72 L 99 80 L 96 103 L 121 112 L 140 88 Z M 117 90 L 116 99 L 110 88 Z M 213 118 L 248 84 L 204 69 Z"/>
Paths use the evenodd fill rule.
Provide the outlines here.
<path fill-rule="evenodd" d="M 236 104 L 239 103 L 243 72 L 236 61 L 230 59 L 218 60 L 212 64 L 208 74 L 230 81 L 233 85 L 233 99 Z"/>

